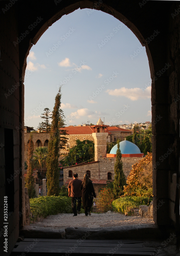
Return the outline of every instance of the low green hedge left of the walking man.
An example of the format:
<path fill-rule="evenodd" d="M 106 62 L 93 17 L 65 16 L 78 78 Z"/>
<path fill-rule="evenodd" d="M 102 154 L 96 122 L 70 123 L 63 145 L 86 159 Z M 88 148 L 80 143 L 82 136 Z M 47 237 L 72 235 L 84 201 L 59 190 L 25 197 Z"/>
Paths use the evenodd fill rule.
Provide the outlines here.
<path fill-rule="evenodd" d="M 41 196 L 30 199 L 30 209 L 34 215 L 32 221 L 39 218 L 46 218 L 48 215 L 58 213 L 73 213 L 71 208 L 71 197 L 66 196 Z"/>

